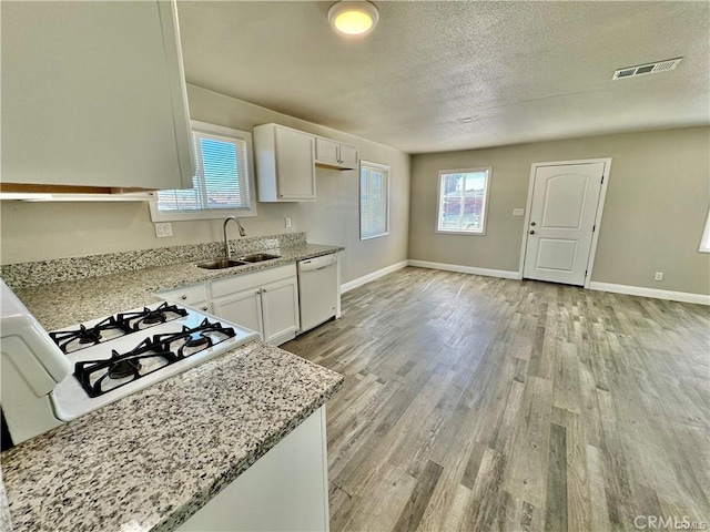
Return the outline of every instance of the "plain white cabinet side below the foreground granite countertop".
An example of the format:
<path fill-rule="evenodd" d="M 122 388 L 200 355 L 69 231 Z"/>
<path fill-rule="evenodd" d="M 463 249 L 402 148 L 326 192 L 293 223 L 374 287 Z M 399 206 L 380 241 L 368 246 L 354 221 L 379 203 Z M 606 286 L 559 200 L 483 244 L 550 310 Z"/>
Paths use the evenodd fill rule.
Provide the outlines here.
<path fill-rule="evenodd" d="M 327 531 L 325 406 L 178 531 Z"/>

